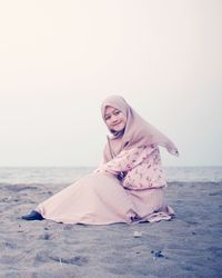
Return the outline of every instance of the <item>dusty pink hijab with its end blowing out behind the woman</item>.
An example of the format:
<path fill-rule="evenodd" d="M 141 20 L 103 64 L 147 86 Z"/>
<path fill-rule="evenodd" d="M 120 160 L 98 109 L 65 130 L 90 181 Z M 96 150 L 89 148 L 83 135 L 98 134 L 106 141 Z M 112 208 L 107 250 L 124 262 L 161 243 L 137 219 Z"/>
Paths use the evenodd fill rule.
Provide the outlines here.
<path fill-rule="evenodd" d="M 104 162 L 108 162 L 123 149 L 131 149 L 142 146 L 161 146 L 171 155 L 179 156 L 174 143 L 157 128 L 143 120 L 132 107 L 120 96 L 111 96 L 102 102 L 101 112 L 104 119 L 105 107 L 113 107 L 127 116 L 127 125 L 123 133 L 108 137 L 104 148 Z"/>

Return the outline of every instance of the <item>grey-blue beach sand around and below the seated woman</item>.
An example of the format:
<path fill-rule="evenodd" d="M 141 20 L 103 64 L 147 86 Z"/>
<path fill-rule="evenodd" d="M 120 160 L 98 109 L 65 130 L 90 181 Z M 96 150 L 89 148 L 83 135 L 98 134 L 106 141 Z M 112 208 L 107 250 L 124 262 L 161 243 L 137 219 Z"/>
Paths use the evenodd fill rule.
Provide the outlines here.
<path fill-rule="evenodd" d="M 0 277 L 222 277 L 222 182 L 170 182 L 171 221 L 19 219 L 65 186 L 0 185 Z"/>

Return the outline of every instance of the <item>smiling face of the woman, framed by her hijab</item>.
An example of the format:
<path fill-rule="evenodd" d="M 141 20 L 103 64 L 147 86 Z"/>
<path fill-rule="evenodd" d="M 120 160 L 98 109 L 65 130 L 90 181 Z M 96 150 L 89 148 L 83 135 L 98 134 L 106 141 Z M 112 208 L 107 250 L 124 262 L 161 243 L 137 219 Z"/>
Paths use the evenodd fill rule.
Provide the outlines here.
<path fill-rule="evenodd" d="M 111 131 L 120 132 L 125 128 L 127 117 L 117 108 L 108 106 L 104 111 L 104 120 Z"/>

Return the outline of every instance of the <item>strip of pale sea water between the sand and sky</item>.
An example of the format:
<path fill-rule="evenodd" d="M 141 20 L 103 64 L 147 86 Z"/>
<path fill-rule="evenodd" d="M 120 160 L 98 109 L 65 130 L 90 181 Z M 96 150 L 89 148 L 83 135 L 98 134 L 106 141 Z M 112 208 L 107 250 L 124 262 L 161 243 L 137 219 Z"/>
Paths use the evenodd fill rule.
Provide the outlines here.
<path fill-rule="evenodd" d="M 0 167 L 0 183 L 72 183 L 89 167 Z M 165 167 L 168 181 L 222 181 L 222 167 Z"/>

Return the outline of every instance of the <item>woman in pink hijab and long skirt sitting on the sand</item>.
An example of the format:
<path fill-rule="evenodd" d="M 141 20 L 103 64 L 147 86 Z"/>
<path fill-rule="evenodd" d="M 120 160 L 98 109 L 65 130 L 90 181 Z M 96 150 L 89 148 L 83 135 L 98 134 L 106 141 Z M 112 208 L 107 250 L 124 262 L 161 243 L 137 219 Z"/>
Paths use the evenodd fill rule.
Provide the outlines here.
<path fill-rule="evenodd" d="M 108 225 L 172 218 L 173 209 L 164 200 L 167 182 L 159 147 L 178 155 L 175 146 L 143 120 L 122 97 L 109 97 L 101 110 L 111 132 L 103 162 L 22 219 Z"/>

